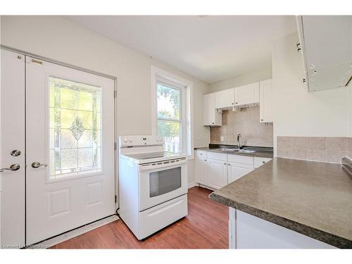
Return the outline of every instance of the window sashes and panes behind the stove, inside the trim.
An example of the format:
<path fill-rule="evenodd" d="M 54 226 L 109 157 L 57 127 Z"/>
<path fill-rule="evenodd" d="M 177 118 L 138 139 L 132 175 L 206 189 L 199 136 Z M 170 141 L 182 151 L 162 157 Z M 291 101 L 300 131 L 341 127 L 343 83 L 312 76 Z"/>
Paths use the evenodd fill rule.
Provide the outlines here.
<path fill-rule="evenodd" d="M 164 138 L 164 149 L 183 151 L 184 88 L 170 82 L 156 82 L 158 135 Z"/>

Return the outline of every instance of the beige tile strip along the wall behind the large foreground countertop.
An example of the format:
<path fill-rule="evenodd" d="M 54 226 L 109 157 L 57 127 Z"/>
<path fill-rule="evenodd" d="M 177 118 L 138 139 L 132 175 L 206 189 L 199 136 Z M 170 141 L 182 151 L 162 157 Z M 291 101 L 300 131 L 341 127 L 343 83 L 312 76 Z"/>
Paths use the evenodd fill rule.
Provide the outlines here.
<path fill-rule="evenodd" d="M 307 161 L 341 163 L 352 158 L 351 137 L 277 137 L 277 156 Z"/>

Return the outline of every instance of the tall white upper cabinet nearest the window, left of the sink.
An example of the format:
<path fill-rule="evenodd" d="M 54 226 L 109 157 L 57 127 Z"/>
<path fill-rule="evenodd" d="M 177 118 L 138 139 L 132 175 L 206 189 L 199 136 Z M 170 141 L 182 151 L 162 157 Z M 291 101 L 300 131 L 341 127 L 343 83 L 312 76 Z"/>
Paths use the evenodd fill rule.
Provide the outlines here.
<path fill-rule="evenodd" d="M 203 95 L 203 125 L 220 126 L 222 125 L 221 113 L 215 108 L 215 94 Z"/>

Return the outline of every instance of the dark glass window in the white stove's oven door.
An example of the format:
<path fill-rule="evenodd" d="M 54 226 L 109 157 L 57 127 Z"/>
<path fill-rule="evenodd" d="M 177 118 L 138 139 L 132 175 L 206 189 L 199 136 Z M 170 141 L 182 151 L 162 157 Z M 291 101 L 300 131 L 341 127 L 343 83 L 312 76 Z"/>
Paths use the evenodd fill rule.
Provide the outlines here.
<path fill-rule="evenodd" d="M 151 172 L 149 174 L 149 196 L 167 194 L 181 187 L 181 167 Z"/>

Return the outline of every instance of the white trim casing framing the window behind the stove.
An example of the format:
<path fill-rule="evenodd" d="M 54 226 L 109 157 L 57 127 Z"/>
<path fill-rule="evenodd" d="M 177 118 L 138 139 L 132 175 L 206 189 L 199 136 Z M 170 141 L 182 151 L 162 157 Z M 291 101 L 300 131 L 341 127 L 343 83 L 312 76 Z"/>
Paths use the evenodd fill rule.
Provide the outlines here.
<path fill-rule="evenodd" d="M 188 158 L 194 158 L 194 118 L 193 118 L 193 82 L 182 77 L 169 73 L 165 70 L 151 65 L 151 134 L 157 134 L 157 116 L 156 116 L 156 82 L 158 78 L 177 84 L 177 86 L 184 87 L 184 95 L 186 95 L 186 109 L 185 120 L 182 120 L 186 127 L 183 129 L 182 137 L 186 135 L 186 149 L 182 146 L 182 151 L 187 152 Z M 184 100 L 182 100 L 184 101 Z M 183 139 L 182 139 L 182 142 Z"/>

